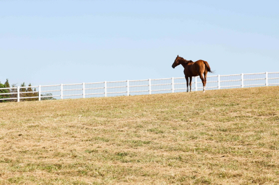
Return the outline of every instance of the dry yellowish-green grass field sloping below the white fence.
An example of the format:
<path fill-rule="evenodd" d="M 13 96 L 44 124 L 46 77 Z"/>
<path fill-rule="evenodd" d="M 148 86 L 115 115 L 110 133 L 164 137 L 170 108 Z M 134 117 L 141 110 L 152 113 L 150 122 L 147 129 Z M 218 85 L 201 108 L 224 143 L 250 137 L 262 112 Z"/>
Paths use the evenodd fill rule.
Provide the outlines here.
<path fill-rule="evenodd" d="M 279 185 L 279 86 L 0 103 L 0 185 Z"/>

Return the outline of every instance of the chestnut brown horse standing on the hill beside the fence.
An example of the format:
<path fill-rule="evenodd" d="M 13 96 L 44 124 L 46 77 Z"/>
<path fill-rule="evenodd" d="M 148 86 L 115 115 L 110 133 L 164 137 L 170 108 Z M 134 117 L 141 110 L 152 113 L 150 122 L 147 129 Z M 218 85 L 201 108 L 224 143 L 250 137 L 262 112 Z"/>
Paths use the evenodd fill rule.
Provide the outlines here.
<path fill-rule="evenodd" d="M 187 61 L 182 57 L 176 57 L 175 61 L 171 65 L 172 68 L 176 67 L 177 65 L 181 64 L 184 67 L 184 74 L 187 81 L 187 92 L 189 92 L 188 85 L 190 78 L 190 92 L 192 91 L 192 76 L 200 76 L 200 79 L 203 84 L 203 92 L 205 92 L 205 85 L 206 85 L 206 76 L 207 72 L 213 72 L 210 70 L 210 66 L 206 61 L 198 60 L 196 62 Z M 203 77 L 203 75 L 204 77 Z"/>

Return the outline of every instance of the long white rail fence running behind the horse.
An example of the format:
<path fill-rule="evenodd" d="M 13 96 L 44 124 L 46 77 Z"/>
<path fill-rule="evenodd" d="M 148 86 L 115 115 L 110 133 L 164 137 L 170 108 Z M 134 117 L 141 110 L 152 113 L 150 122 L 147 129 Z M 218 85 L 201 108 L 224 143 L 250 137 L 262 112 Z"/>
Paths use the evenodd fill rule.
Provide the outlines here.
<path fill-rule="evenodd" d="M 279 72 L 263 72 L 250 74 L 231 74 L 207 76 L 206 89 L 243 88 L 256 86 L 279 85 Z M 32 91 L 26 91 L 26 88 Z M 37 88 L 37 89 L 36 89 Z M 33 100 L 65 99 L 65 98 L 90 98 L 102 96 L 129 96 L 156 93 L 173 93 L 186 91 L 184 77 L 104 81 L 95 83 L 38 85 L 31 87 L 0 88 L 0 100 L 14 100 L 33 98 Z M 193 77 L 192 90 L 202 90 L 200 78 Z"/>

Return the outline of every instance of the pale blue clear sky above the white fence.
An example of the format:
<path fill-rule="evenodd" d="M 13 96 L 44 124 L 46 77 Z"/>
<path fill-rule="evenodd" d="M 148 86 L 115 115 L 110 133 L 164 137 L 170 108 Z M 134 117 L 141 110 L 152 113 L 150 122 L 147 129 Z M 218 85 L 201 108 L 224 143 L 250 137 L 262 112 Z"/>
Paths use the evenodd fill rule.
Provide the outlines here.
<path fill-rule="evenodd" d="M 51 85 L 279 71 L 278 0 L 0 0 L 0 81 Z M 212 75 L 212 74 L 209 74 Z"/>

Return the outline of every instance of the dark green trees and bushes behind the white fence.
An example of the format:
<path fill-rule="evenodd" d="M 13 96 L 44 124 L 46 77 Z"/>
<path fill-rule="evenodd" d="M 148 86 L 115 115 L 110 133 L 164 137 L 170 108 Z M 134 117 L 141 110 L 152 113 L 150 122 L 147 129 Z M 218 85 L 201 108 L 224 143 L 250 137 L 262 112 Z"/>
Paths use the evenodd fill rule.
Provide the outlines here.
<path fill-rule="evenodd" d="M 31 88 L 31 83 L 29 83 L 29 85 L 27 86 L 27 88 L 20 88 L 20 92 L 24 92 L 24 93 L 20 93 L 20 98 L 24 98 L 24 97 L 38 97 L 39 93 L 38 92 L 34 92 L 36 91 L 36 88 Z M 17 87 L 16 84 L 12 84 L 11 87 Z M 22 84 L 20 84 L 20 87 L 26 87 L 25 82 L 23 82 Z M 0 88 L 10 88 L 8 79 L 6 79 L 5 83 L 2 84 L 0 82 Z M 14 94 L 4 94 L 1 95 L 1 93 L 14 93 Z M 51 93 L 45 94 L 46 96 L 51 96 Z M 43 96 L 43 95 L 41 95 Z M 13 89 L 0 89 L 0 99 L 1 98 L 17 98 L 17 88 L 13 88 Z M 39 100 L 39 98 L 24 98 L 24 99 L 20 99 L 20 101 L 35 101 L 35 100 Z M 41 100 L 54 100 L 53 97 L 46 97 L 46 98 L 41 98 Z M 0 100 L 0 102 L 16 102 L 16 99 L 13 100 Z"/>

